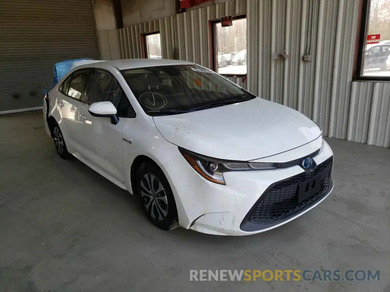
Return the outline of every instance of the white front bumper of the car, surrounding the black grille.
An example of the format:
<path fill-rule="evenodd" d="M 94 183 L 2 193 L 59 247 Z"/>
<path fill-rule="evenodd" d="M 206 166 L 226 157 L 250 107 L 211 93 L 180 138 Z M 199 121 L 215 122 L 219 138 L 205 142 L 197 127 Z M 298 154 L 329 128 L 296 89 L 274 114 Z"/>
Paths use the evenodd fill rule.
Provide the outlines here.
<path fill-rule="evenodd" d="M 285 157 L 286 153 L 282 155 Z M 275 161 L 278 160 L 277 156 L 274 155 Z M 318 155 L 313 159 L 317 165 L 320 165 L 332 156 L 330 146 L 323 141 Z M 295 158 L 297 157 L 293 157 Z M 180 225 L 186 229 L 209 234 L 237 236 L 273 229 L 314 208 L 333 189 L 332 171 L 330 171 L 326 192 L 316 197 L 310 204 L 277 222 L 254 223 L 255 220 L 250 220 L 250 216 L 269 189 L 277 182 L 305 173 L 300 166 L 272 171 L 225 172 L 223 177 L 226 185 L 218 185 L 202 178 L 183 156 L 170 160 L 161 165 L 161 168 L 174 193 Z"/>

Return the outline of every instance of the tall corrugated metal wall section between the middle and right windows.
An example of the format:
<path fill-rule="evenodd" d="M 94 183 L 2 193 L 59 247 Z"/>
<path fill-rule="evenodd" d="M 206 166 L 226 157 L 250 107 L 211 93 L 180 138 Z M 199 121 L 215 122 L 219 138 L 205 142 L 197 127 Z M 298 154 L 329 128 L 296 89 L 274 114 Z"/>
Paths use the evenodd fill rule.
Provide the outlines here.
<path fill-rule="evenodd" d="M 310 9 L 314 7 L 313 30 Z M 358 1 L 248 1 L 248 89 L 346 139 Z M 304 62 L 309 32 L 311 62 Z M 309 46 L 310 47 L 310 46 Z M 289 58 L 275 59 L 286 53 Z"/>

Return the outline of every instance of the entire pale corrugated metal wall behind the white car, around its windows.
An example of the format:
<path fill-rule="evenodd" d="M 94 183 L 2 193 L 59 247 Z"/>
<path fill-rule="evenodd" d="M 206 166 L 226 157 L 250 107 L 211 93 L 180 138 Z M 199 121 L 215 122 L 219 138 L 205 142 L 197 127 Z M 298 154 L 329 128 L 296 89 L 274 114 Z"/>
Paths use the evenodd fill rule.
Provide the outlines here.
<path fill-rule="evenodd" d="M 329 137 L 390 146 L 390 85 L 351 81 L 358 1 L 232 0 L 117 30 L 108 46 L 117 47 L 117 53 L 103 57 L 139 58 L 139 33 L 160 30 L 163 58 L 172 57 L 176 34 L 179 58 L 209 67 L 207 21 L 242 13 L 247 16 L 248 78 L 234 82 L 300 111 Z M 310 37 L 311 62 L 304 62 Z M 288 58 L 275 59 L 283 53 Z"/>

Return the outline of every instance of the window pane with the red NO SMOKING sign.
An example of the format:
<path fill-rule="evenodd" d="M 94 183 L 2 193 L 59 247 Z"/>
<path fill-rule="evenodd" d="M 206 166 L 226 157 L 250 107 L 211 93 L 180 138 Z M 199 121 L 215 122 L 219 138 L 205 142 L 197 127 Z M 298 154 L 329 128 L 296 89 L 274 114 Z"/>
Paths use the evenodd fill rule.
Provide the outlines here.
<path fill-rule="evenodd" d="M 357 79 L 390 80 L 390 5 L 385 0 L 362 4 Z"/>

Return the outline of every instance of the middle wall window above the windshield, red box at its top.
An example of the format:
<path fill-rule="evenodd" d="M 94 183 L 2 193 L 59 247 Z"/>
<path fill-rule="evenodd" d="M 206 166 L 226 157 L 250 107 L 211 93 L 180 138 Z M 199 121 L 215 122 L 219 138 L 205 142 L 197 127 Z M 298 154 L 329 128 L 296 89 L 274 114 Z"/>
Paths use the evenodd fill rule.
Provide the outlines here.
<path fill-rule="evenodd" d="M 211 67 L 223 76 L 246 76 L 246 16 L 210 21 Z"/>

